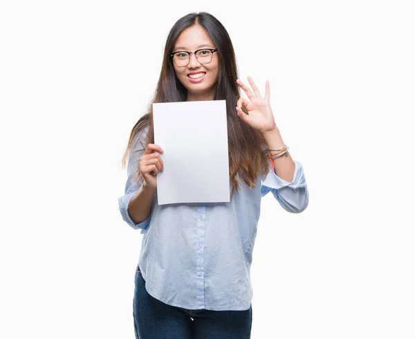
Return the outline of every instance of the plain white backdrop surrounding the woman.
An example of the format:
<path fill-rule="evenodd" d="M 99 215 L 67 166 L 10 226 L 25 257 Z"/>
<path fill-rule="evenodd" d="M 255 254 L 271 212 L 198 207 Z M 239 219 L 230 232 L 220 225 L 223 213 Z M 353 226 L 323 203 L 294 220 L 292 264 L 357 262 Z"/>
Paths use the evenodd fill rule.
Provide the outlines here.
<path fill-rule="evenodd" d="M 0 337 L 134 338 L 122 154 L 169 29 L 205 10 L 310 192 L 262 201 L 252 338 L 415 338 L 409 3 L 2 1 Z"/>

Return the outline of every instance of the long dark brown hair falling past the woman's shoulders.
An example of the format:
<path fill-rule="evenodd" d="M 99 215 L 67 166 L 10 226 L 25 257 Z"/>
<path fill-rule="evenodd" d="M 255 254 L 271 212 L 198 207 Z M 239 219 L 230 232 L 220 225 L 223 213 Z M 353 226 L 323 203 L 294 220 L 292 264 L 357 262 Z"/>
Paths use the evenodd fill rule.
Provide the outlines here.
<path fill-rule="evenodd" d="M 232 183 L 231 196 L 239 189 L 238 176 L 249 186 L 255 187 L 258 175 L 268 171 L 269 158 L 266 154 L 266 143 L 261 133 L 239 118 L 237 115 L 237 100 L 241 98 L 237 85 L 238 71 L 232 42 L 221 22 L 207 12 L 192 12 L 176 21 L 167 37 L 163 64 L 154 98 L 147 107 L 147 113 L 142 116 L 131 130 L 127 149 L 122 158 L 125 167 L 130 149 L 133 149 L 134 137 L 148 127 L 146 145 L 154 143 L 153 103 L 183 102 L 187 100 L 187 89 L 181 84 L 174 71 L 172 59 L 169 57 L 174 48 L 178 35 L 183 30 L 194 25 L 200 25 L 207 31 L 212 42 L 218 49 L 219 77 L 216 82 L 214 100 L 226 100 L 226 115 L 228 121 L 228 152 L 229 175 Z M 246 109 L 244 107 L 245 113 Z M 143 149 L 140 149 L 142 151 Z M 140 169 L 136 169 L 135 180 L 142 181 Z"/>

